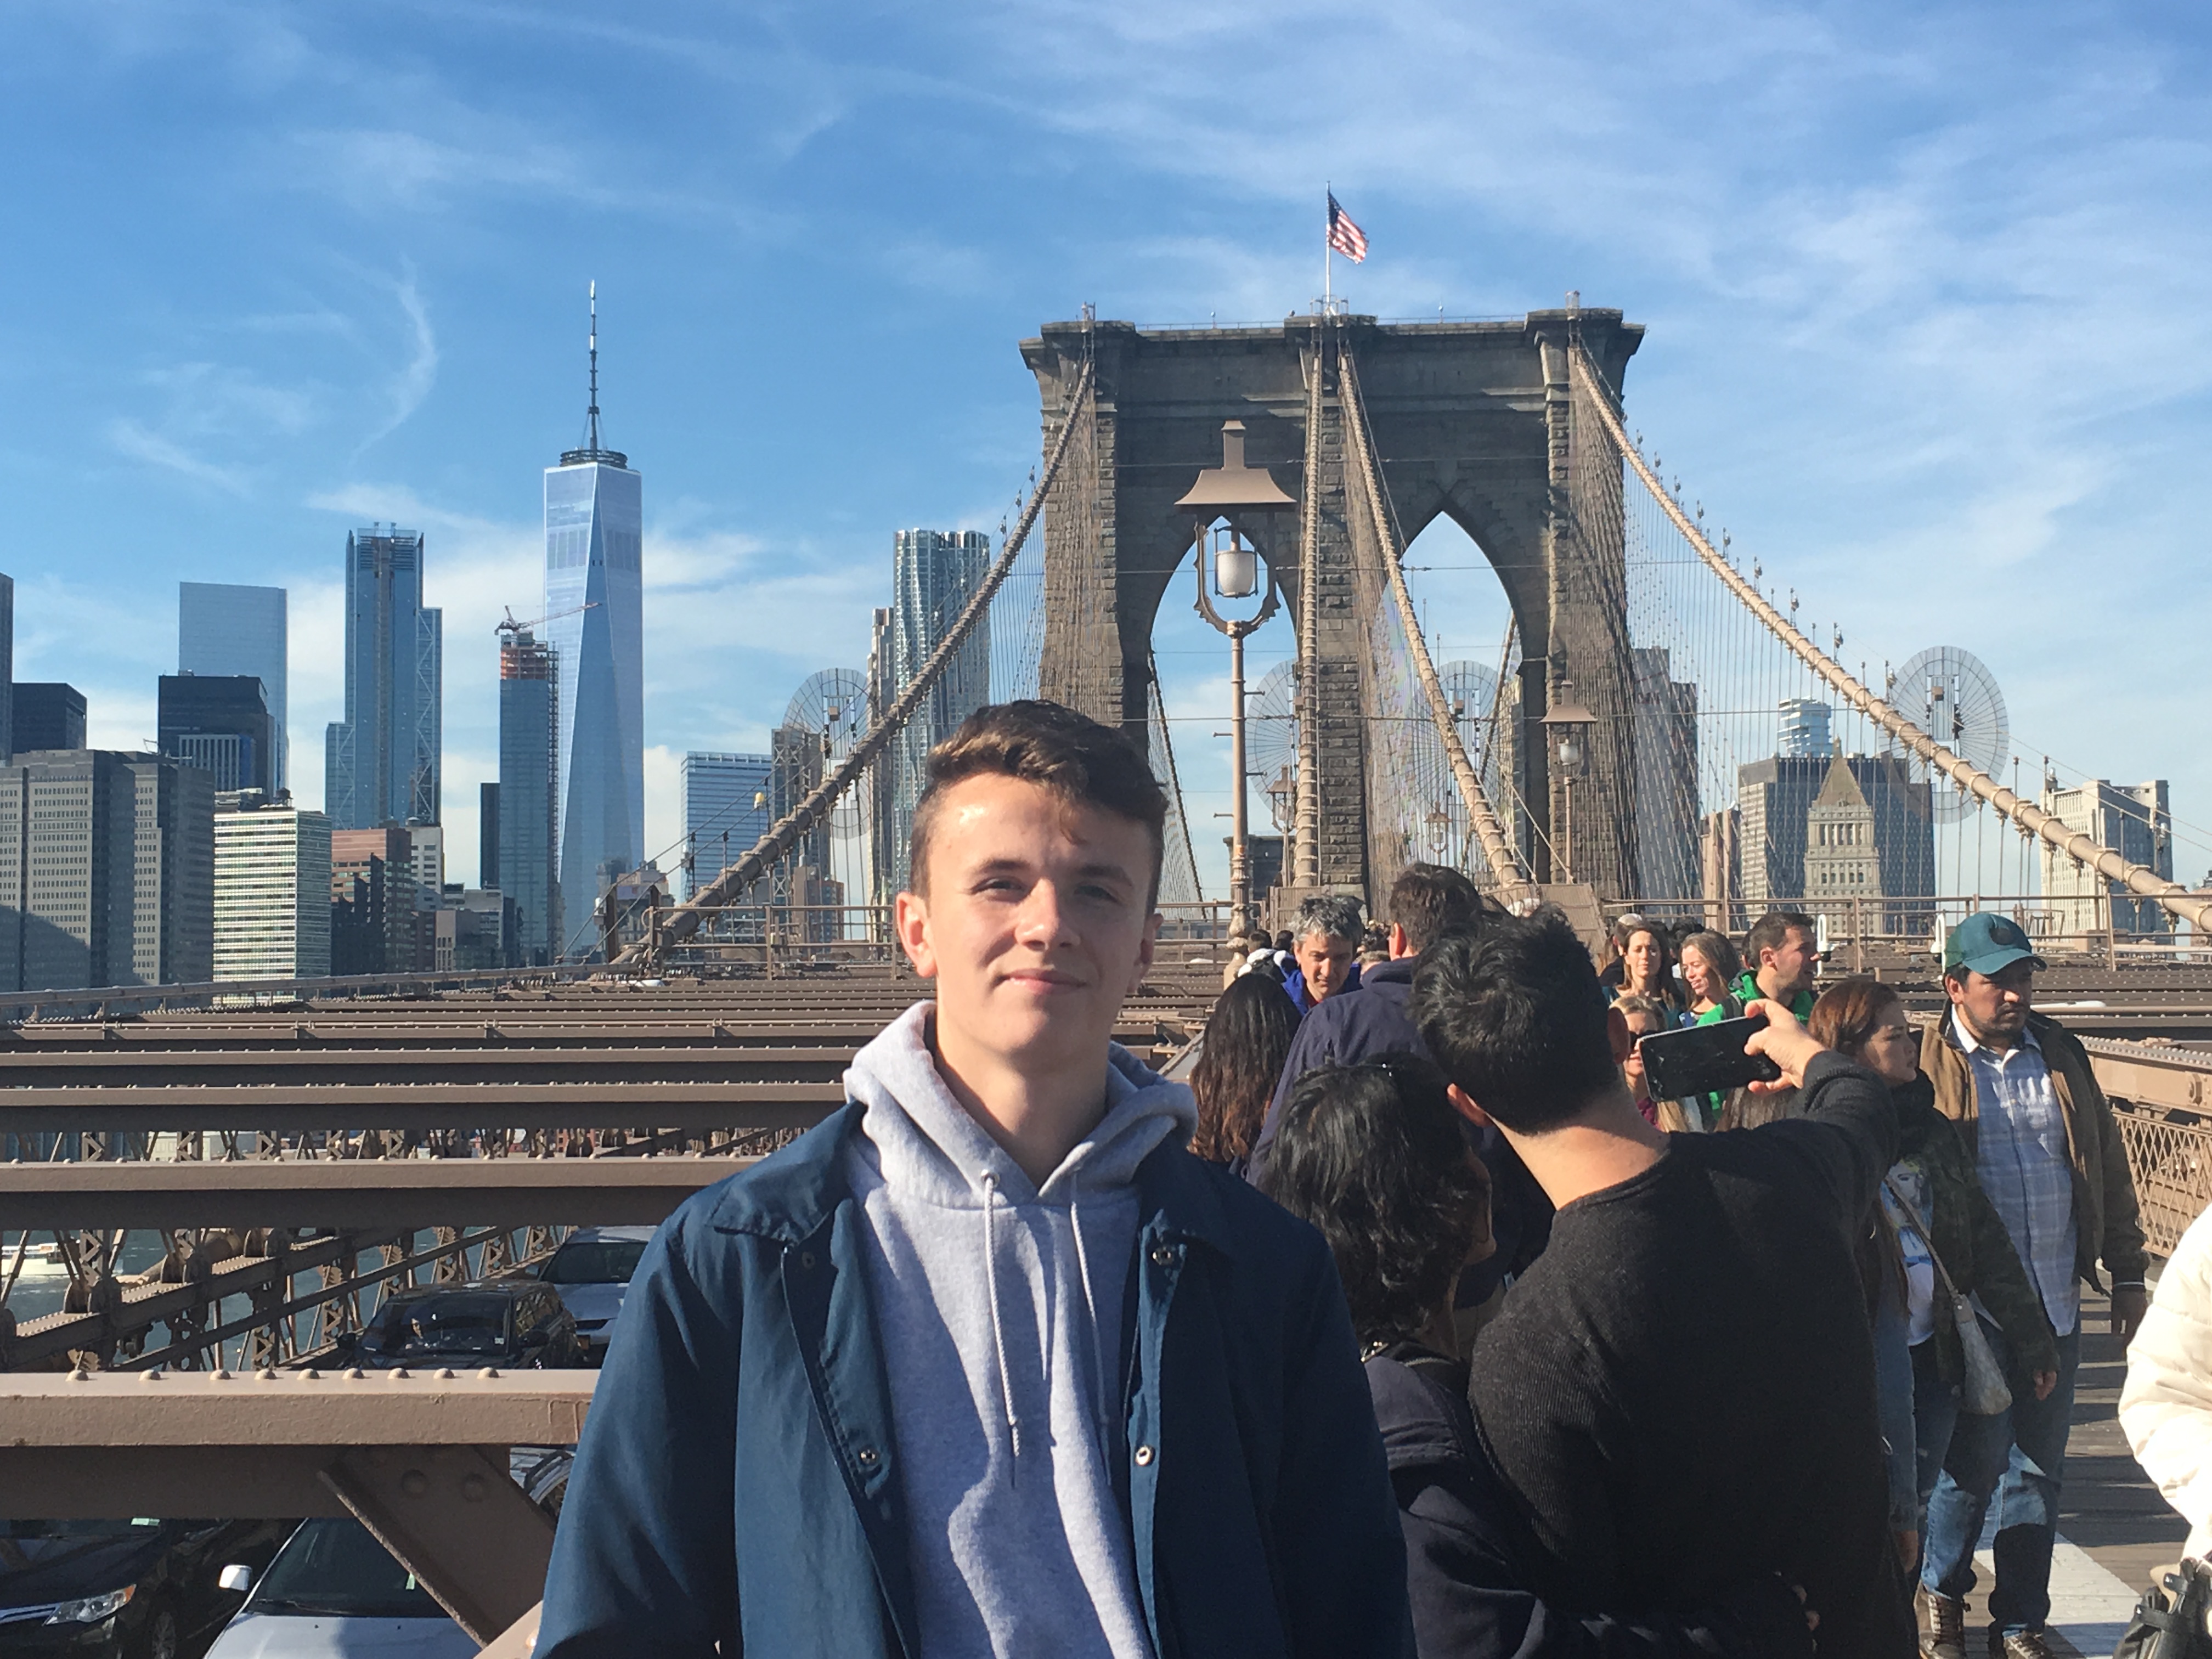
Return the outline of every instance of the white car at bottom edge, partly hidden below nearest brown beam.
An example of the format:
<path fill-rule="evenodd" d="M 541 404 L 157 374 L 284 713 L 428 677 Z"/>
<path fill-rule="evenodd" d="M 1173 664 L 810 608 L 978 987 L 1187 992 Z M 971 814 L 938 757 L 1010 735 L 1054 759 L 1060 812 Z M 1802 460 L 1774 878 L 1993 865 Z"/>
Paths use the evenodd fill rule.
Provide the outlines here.
<path fill-rule="evenodd" d="M 478 1650 L 352 1517 L 301 1522 L 259 1584 L 246 1566 L 226 1566 L 221 1582 L 252 1593 L 208 1659 L 473 1659 Z"/>

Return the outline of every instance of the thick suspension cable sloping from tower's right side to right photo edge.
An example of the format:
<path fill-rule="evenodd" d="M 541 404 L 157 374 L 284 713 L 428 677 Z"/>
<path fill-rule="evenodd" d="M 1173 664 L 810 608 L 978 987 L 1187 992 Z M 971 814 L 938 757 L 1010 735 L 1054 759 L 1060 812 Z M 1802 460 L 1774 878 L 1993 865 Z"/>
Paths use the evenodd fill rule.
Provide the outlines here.
<path fill-rule="evenodd" d="M 2128 891 L 2154 900 L 2168 914 L 2185 920 L 2194 931 L 2199 933 L 2212 931 L 2212 898 L 2205 898 L 2203 894 L 2192 894 L 2181 883 L 2166 880 L 2150 865 L 2128 863 L 2128 858 L 2117 847 L 2106 847 L 2095 836 L 2086 836 L 2079 830 L 2068 830 L 2057 816 L 2013 794 L 2013 790 L 2006 790 L 2002 783 L 1997 783 L 1997 779 L 1989 776 L 1978 765 L 1973 765 L 1973 761 L 1966 761 L 1947 750 L 1924 730 L 1905 719 L 1885 699 L 1876 697 L 1867 686 L 1854 679 L 1851 672 L 1845 670 L 1843 664 L 1832 659 L 1825 650 L 1820 650 L 1820 646 L 1801 635 L 1796 626 L 1783 617 L 1781 611 L 1767 604 L 1767 599 L 1759 593 L 1759 588 L 1754 588 L 1750 582 L 1736 575 L 1734 566 L 1728 564 L 1728 560 L 1723 560 L 1714 551 L 1712 542 L 1708 542 L 1705 533 L 1697 526 L 1697 520 L 1692 520 L 1686 511 L 1681 511 L 1681 502 L 1677 502 L 1674 495 L 1668 493 L 1668 489 L 1659 482 L 1652 469 L 1644 462 L 1644 456 L 1637 451 L 1637 447 L 1628 442 L 1628 434 L 1621 429 L 1619 411 L 1613 407 L 1613 389 L 1606 385 L 1606 378 L 1597 372 L 1597 365 L 1590 363 L 1590 354 L 1586 349 L 1577 349 L 1573 363 L 1575 363 L 1575 374 L 1582 378 L 1584 389 L 1590 394 L 1590 403 L 1597 405 L 1597 418 L 1604 420 L 1606 431 L 1613 438 L 1613 445 L 1621 451 L 1628 465 L 1635 467 L 1637 478 L 1644 480 L 1644 487 L 1652 493 L 1652 500 L 1657 500 L 1659 507 L 1666 511 L 1666 515 L 1674 520 L 1674 529 L 1681 531 L 1683 538 L 1690 542 L 1690 546 L 1697 549 L 1697 555 L 1705 562 L 1705 566 L 1717 577 L 1721 577 L 1728 591 L 1734 593 L 1745 604 L 1745 608 L 1767 626 L 1767 633 L 1781 639 L 1798 657 L 1798 661 L 1803 661 L 1807 668 L 1812 668 L 1814 675 L 1818 675 L 1832 688 L 1836 688 L 1851 703 L 1851 708 L 1869 717 L 1876 726 L 1880 726 L 1885 732 L 1905 743 L 1913 754 L 1927 761 L 1929 768 L 1942 770 L 1958 787 L 1969 790 L 1982 801 L 1989 801 L 1989 805 L 1993 805 L 2006 818 L 2017 823 L 2026 834 L 2039 836 L 2046 845 L 2057 847 L 2077 865 L 2093 865 L 2097 874 L 2106 876 L 2108 880 L 2121 883 L 2124 887 L 2128 887 Z"/>

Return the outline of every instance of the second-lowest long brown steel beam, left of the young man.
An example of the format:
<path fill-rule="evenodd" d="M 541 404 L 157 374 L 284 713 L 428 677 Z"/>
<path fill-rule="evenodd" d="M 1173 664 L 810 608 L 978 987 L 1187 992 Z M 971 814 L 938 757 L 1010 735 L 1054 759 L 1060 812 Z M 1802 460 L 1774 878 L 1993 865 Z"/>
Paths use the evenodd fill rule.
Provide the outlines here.
<path fill-rule="evenodd" d="M 653 1225 L 750 1157 L 0 1164 L 15 1228 Z"/>

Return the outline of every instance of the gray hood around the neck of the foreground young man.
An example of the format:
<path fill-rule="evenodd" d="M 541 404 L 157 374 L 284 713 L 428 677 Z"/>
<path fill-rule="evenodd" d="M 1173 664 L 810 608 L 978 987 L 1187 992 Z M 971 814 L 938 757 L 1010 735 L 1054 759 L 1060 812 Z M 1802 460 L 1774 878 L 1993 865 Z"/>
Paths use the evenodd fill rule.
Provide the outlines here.
<path fill-rule="evenodd" d="M 1137 1166 L 1170 1135 L 1190 1141 L 1199 1108 L 1121 1044 L 1106 1046 L 1106 1115 L 1033 1186 L 1006 1148 L 953 1099 L 929 1046 L 933 1002 L 916 1002 L 854 1055 L 845 1095 L 867 1106 L 858 1141 L 874 1152 L 885 1186 L 949 1210 L 980 1210 L 995 1188 L 1000 1203 L 1066 1206 L 1126 1188 Z"/>

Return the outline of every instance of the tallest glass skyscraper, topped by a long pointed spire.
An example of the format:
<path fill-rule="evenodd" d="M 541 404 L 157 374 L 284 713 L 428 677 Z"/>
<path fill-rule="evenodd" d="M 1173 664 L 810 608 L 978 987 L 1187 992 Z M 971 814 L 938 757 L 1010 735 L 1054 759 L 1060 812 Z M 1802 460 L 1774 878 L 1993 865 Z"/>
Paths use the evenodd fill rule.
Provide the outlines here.
<path fill-rule="evenodd" d="M 568 916 L 646 854 L 644 480 L 599 447 L 599 305 L 584 447 L 546 467 L 546 639 L 560 670 L 560 887 Z"/>

